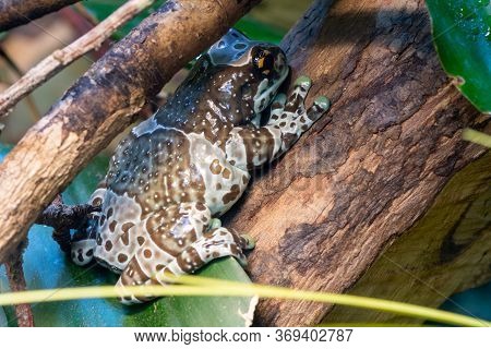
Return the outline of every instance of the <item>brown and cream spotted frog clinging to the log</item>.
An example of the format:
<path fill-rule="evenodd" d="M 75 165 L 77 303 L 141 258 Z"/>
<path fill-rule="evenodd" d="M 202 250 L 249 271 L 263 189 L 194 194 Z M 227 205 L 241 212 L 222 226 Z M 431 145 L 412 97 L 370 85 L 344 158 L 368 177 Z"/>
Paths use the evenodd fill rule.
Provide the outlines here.
<path fill-rule="evenodd" d="M 286 153 L 330 108 L 324 96 L 306 107 L 307 76 L 288 97 L 279 93 L 289 73 L 278 46 L 229 29 L 116 147 L 89 198 L 99 212 L 73 237 L 73 262 L 95 260 L 119 274 L 124 304 L 153 299 L 124 289 L 166 285 L 166 273 L 192 274 L 225 256 L 246 267 L 254 241 L 223 227 L 219 217 L 241 197 L 254 169 Z M 261 118 L 266 109 L 268 118 Z"/>

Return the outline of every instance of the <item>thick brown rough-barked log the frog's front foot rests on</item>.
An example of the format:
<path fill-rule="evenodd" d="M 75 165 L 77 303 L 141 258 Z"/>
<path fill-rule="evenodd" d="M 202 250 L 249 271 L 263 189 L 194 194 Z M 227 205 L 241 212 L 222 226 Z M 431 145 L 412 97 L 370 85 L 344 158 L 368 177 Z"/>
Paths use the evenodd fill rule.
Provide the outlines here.
<path fill-rule="evenodd" d="M 258 173 L 225 224 L 258 239 L 249 267 L 254 281 L 347 292 L 384 249 L 406 236 L 445 183 L 486 152 L 462 141 L 463 128 L 490 124 L 442 71 L 422 0 L 339 0 L 325 15 L 331 2 L 316 1 L 283 46 L 295 73 L 312 77 L 310 98 L 331 97 L 333 120 L 320 120 Z M 475 240 L 479 255 L 491 250 L 490 241 Z M 427 241 L 405 248 L 420 257 L 430 253 Z M 451 258 L 458 253 L 446 251 Z M 440 277 L 465 284 L 480 269 L 441 270 Z M 410 285 L 394 288 L 409 293 Z M 434 305 L 436 298 L 426 302 Z M 256 323 L 311 325 L 331 309 L 267 300 Z"/>

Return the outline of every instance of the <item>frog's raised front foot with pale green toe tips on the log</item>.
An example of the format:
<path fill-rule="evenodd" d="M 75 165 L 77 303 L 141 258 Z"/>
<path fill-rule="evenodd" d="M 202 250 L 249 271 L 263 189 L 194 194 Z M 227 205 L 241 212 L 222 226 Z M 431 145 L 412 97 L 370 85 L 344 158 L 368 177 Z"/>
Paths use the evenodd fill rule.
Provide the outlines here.
<path fill-rule="evenodd" d="M 280 152 L 286 152 L 323 113 L 330 108 L 330 100 L 320 96 L 313 105 L 306 108 L 306 97 L 312 83 L 309 77 L 300 76 L 295 82 L 294 92 L 288 99 L 278 94 L 272 104 L 267 125 L 280 131 Z"/>

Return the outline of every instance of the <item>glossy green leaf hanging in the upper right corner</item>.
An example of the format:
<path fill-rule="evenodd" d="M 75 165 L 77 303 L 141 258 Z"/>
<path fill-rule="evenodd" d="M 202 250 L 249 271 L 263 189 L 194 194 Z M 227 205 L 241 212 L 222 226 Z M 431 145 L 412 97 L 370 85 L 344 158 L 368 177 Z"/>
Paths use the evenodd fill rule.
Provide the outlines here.
<path fill-rule="evenodd" d="M 427 4 L 443 68 L 480 111 L 491 113 L 490 0 L 428 0 Z"/>

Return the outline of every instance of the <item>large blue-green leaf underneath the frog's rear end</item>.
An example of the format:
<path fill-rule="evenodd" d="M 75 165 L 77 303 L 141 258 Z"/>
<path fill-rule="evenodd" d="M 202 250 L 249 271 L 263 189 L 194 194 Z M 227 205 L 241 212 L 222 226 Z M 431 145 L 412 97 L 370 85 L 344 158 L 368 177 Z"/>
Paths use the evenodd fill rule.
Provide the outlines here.
<path fill-rule="evenodd" d="M 0 144 L 0 161 L 8 151 Z M 64 191 L 63 200 L 69 204 L 86 202 L 107 164 L 107 157 L 97 157 Z M 29 289 L 116 282 L 117 275 L 106 268 L 97 265 L 83 268 L 69 261 L 52 241 L 50 228 L 33 226 L 28 237 L 24 270 Z M 250 282 L 232 258 L 215 261 L 199 274 Z M 0 269 L 0 290 L 8 290 L 4 268 Z M 243 314 L 250 304 L 254 304 L 252 298 L 168 297 L 137 306 L 124 306 L 117 300 L 92 299 L 38 303 L 33 305 L 33 312 L 38 326 L 244 326 Z M 10 324 L 15 323 L 12 309 L 5 308 L 5 312 Z"/>

